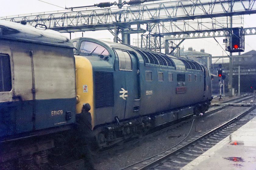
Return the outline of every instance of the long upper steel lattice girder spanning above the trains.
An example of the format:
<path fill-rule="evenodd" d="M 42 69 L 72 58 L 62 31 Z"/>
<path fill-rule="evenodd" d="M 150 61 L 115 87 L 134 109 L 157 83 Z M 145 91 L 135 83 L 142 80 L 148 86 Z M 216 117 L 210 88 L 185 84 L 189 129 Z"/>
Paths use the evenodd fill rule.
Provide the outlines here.
<path fill-rule="evenodd" d="M 118 8 L 86 8 L 80 11 L 58 11 L 44 12 L 42 14 L 18 15 L 12 17 L 1 17 L 13 22 L 27 20 L 30 25 L 37 23 L 45 24 L 49 29 L 59 32 L 80 32 L 127 28 L 127 25 L 160 23 L 164 28 L 162 32 L 172 31 L 194 31 L 199 29 L 209 29 L 205 26 L 205 22 L 194 21 L 196 19 L 212 19 L 233 16 L 246 15 L 256 13 L 254 5 L 255 0 L 181 0 L 175 2 L 148 3 L 137 6 L 126 6 L 123 9 Z M 232 4 L 232 11 L 230 5 Z M 193 21 L 198 25 L 197 28 L 190 26 L 180 27 L 177 21 Z M 164 26 L 164 22 L 174 23 L 169 27 Z M 212 22 L 211 28 L 223 28 L 218 22 Z M 184 25 L 186 23 L 184 22 Z M 151 25 L 152 26 L 152 25 Z M 155 26 L 155 25 L 153 25 Z M 150 29 L 150 28 L 149 28 Z M 149 31 L 152 31 L 150 29 Z M 160 31 L 160 29 L 159 29 Z"/>

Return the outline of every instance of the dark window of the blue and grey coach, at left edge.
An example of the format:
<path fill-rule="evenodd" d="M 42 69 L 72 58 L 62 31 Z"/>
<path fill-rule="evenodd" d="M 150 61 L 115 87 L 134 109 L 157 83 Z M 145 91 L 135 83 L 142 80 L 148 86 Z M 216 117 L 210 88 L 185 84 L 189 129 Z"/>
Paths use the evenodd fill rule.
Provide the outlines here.
<path fill-rule="evenodd" d="M 11 63 L 8 55 L 0 54 L 0 92 L 12 90 Z"/>

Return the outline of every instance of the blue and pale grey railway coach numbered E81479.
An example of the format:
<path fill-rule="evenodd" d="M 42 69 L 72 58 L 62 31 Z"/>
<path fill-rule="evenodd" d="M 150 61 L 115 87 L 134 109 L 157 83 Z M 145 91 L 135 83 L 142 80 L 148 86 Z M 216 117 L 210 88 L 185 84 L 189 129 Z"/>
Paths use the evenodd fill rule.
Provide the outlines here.
<path fill-rule="evenodd" d="M 35 27 L 0 21 L 1 169 L 9 160 L 42 161 L 54 147 L 49 135 L 75 122 L 73 43 L 45 25 Z"/>

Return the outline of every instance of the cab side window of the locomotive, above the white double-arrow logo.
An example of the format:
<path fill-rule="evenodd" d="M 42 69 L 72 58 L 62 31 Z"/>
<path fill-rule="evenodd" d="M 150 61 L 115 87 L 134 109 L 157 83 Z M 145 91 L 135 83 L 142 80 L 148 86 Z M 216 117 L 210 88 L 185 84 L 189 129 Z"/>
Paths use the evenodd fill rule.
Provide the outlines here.
<path fill-rule="evenodd" d="M 128 52 L 116 49 L 119 59 L 119 70 L 132 70 L 132 59 Z"/>

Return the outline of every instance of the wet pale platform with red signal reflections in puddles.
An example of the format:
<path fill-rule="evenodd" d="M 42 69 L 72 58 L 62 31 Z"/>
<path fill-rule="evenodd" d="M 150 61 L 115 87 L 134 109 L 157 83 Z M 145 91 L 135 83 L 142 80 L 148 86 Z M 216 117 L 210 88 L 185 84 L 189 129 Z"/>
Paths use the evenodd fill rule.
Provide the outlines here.
<path fill-rule="evenodd" d="M 181 170 L 255 170 L 256 117 Z"/>

